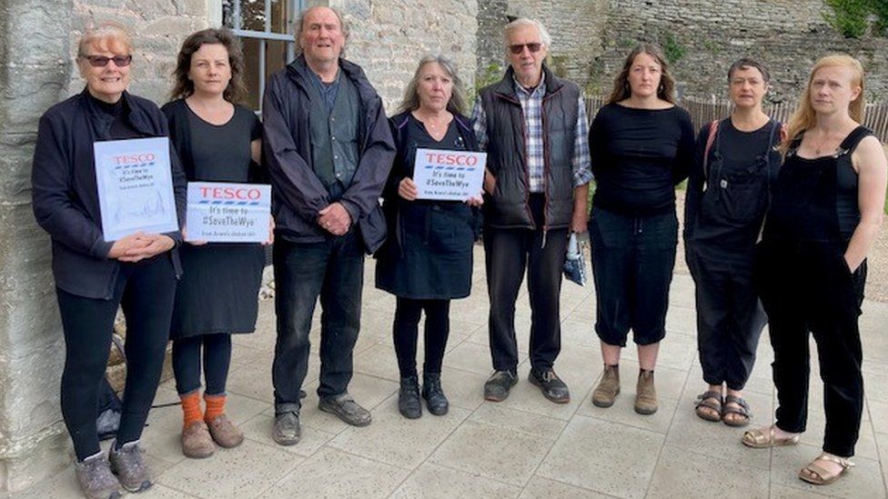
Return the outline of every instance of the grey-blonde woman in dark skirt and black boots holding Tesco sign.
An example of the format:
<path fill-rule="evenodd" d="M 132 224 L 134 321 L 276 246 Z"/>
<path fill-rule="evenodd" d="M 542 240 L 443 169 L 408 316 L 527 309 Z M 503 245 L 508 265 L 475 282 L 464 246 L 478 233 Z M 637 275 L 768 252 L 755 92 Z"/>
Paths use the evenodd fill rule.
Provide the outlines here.
<path fill-rule="evenodd" d="M 422 398 L 431 414 L 447 414 L 441 362 L 449 334 L 449 307 L 471 289 L 472 245 L 478 233 L 480 193 L 465 202 L 417 199 L 413 183 L 419 148 L 478 151 L 465 109 L 462 82 L 441 56 L 426 56 L 389 121 L 398 154 L 384 193 L 389 224 L 378 254 L 376 285 L 398 296 L 392 335 L 398 355 L 398 408 L 409 418 L 422 414 L 416 369 L 419 315 L 426 313 Z"/>

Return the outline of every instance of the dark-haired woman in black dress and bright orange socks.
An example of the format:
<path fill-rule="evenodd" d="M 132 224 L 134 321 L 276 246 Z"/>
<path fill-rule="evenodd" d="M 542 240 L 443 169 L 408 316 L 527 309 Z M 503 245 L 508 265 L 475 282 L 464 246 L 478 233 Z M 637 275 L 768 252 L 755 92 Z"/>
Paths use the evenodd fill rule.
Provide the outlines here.
<path fill-rule="evenodd" d="M 163 111 L 189 181 L 261 180 L 259 121 L 246 107 L 233 104 L 243 94 L 243 65 L 237 39 L 225 29 L 199 31 L 182 45 L 172 92 L 177 100 Z M 269 230 L 267 243 L 271 238 Z M 184 413 L 182 452 L 206 457 L 213 454 L 214 441 L 235 447 L 244 439 L 225 415 L 225 384 L 231 334 L 256 328 L 265 254 L 256 244 L 188 241 L 182 247 L 182 264 L 185 274 L 170 330 Z M 206 413 L 199 396 L 201 370 L 207 382 Z"/>

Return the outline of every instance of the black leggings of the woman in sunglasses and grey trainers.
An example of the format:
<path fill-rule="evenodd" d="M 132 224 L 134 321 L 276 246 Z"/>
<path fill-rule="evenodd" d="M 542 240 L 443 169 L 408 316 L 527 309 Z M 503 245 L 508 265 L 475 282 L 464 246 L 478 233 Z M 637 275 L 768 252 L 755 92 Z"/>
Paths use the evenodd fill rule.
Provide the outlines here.
<path fill-rule="evenodd" d="M 176 275 L 162 254 L 137 264 L 121 264 L 108 300 L 86 298 L 55 288 L 65 334 L 62 417 L 78 461 L 100 451 L 96 432 L 99 387 L 108 363 L 117 305 L 126 315 L 126 388 L 118 445 L 142 435 L 164 365 Z"/>

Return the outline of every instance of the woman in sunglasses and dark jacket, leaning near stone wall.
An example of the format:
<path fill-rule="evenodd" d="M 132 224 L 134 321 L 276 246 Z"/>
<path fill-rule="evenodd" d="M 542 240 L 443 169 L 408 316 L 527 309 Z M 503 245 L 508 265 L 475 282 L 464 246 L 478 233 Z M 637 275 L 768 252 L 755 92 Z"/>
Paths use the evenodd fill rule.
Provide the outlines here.
<path fill-rule="evenodd" d="M 178 231 L 139 232 L 116 241 L 102 232 L 93 145 L 166 135 L 157 106 L 126 92 L 132 54 L 120 25 L 99 25 L 80 39 L 77 65 L 86 88 L 40 118 L 31 178 L 37 223 L 52 238 L 65 335 L 62 415 L 74 441 L 77 480 L 90 498 L 116 497 L 121 485 L 130 492 L 151 485 L 138 442 L 164 363 L 179 274 Z M 181 221 L 186 181 L 173 150 L 170 165 Z M 96 407 L 118 305 L 126 315 L 126 388 L 116 441 L 106 456 Z"/>

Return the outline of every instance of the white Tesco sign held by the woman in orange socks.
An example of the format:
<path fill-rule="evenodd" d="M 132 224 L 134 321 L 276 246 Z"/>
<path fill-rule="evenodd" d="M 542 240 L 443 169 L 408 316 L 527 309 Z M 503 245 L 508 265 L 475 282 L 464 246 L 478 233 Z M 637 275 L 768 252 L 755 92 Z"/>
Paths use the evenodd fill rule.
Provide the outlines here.
<path fill-rule="evenodd" d="M 187 240 L 264 243 L 271 185 L 189 182 Z"/>

